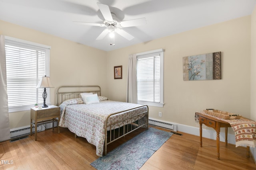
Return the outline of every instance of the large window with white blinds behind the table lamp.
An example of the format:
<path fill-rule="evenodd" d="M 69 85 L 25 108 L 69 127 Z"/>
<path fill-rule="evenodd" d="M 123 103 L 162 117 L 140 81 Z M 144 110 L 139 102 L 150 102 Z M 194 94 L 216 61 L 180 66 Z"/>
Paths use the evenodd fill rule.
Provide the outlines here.
<path fill-rule="evenodd" d="M 42 76 L 49 76 L 50 47 L 6 36 L 5 50 L 9 112 L 42 104 L 44 89 L 36 86 Z"/>

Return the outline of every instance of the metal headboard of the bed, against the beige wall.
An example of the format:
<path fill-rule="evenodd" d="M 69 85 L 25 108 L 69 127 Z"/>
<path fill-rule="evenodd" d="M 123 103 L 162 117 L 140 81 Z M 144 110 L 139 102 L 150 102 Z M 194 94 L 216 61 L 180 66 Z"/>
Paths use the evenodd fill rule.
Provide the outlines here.
<path fill-rule="evenodd" d="M 57 106 L 68 99 L 81 98 L 80 93 L 93 93 L 100 96 L 100 86 L 60 86 L 57 89 Z"/>

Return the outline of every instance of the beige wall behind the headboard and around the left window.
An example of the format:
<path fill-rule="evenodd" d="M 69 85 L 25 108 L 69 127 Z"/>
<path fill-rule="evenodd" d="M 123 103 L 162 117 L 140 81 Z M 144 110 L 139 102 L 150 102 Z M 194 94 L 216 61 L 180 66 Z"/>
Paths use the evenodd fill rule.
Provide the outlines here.
<path fill-rule="evenodd" d="M 62 85 L 99 85 L 106 95 L 106 52 L 0 21 L 0 34 L 51 46 L 50 102 L 56 104 L 56 89 Z M 10 128 L 30 125 L 30 111 L 9 114 Z"/>

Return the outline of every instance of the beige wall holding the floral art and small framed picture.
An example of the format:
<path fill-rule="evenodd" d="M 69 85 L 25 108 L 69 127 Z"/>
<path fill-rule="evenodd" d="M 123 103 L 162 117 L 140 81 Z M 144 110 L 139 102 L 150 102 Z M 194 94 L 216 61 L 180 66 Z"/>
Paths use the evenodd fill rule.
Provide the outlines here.
<path fill-rule="evenodd" d="M 128 55 L 163 48 L 165 105 L 150 107 L 150 117 L 189 126 L 196 126 L 194 113 L 206 108 L 250 117 L 250 25 L 246 16 L 108 52 L 108 97 L 125 101 Z M 183 81 L 182 57 L 217 51 L 222 80 Z M 113 78 L 117 65 L 123 66 L 122 80 Z"/>

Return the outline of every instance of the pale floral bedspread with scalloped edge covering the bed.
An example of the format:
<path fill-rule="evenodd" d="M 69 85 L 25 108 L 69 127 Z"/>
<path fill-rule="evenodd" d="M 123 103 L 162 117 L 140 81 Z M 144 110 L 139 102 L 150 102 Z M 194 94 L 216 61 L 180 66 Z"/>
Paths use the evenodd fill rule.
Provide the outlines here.
<path fill-rule="evenodd" d="M 116 102 L 111 100 L 100 100 L 96 104 L 84 104 L 82 98 L 69 99 L 64 101 L 60 107 L 61 127 L 68 129 L 79 137 L 84 137 L 92 145 L 96 146 L 96 154 L 102 156 L 105 142 L 105 120 L 111 113 L 132 109 L 142 105 L 125 102 Z M 129 112 L 122 112 L 110 117 L 108 124 L 113 123 L 131 115 L 147 111 L 147 107 L 133 109 Z M 143 115 L 142 115 L 143 117 Z M 131 123 L 135 120 L 129 119 Z M 122 124 L 119 124 L 122 126 Z M 116 128 L 116 127 L 112 127 Z M 108 129 L 109 130 L 109 129 Z"/>

